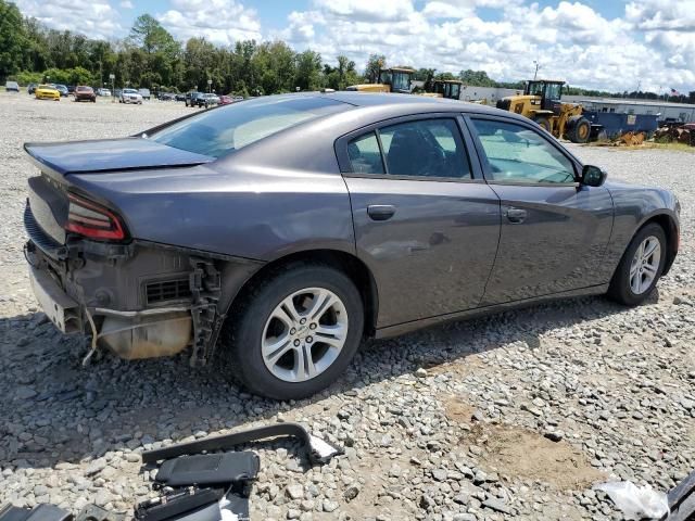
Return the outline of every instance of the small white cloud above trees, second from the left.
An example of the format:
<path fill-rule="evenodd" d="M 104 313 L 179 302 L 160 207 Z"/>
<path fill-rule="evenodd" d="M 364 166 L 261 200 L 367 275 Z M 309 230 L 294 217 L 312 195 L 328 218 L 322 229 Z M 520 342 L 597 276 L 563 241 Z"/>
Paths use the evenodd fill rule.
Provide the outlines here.
<path fill-rule="evenodd" d="M 256 12 L 236 0 L 172 0 L 174 9 L 156 14 L 176 38 L 204 37 L 228 46 L 239 40 L 262 39 Z"/>

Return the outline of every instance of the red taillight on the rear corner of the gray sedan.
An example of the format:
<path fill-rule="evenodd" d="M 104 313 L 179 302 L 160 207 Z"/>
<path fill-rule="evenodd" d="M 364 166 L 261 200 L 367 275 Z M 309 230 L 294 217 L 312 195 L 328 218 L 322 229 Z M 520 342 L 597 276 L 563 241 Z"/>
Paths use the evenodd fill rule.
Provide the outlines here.
<path fill-rule="evenodd" d="M 121 218 L 100 204 L 67 194 L 70 208 L 65 229 L 90 239 L 119 241 L 125 239 L 125 227 Z"/>

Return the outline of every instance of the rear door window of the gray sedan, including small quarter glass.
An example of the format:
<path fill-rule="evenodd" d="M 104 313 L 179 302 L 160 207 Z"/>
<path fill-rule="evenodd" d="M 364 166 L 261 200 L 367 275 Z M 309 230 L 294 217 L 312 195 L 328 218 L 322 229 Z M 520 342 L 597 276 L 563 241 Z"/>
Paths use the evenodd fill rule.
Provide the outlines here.
<path fill-rule="evenodd" d="M 381 141 L 381 149 L 379 141 Z M 348 155 L 355 174 L 470 179 L 470 164 L 454 119 L 417 119 L 354 139 Z"/>

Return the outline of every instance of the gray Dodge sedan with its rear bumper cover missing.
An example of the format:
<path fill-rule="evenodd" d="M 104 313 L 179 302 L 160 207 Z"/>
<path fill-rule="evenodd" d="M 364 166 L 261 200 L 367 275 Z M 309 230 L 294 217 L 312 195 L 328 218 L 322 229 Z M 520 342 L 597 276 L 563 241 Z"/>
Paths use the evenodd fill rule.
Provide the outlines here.
<path fill-rule="evenodd" d="M 27 143 L 37 300 L 124 358 L 190 350 L 308 396 L 363 335 L 560 296 L 636 305 L 679 203 L 605 182 L 515 114 L 357 92 L 271 96 L 140 135 Z"/>

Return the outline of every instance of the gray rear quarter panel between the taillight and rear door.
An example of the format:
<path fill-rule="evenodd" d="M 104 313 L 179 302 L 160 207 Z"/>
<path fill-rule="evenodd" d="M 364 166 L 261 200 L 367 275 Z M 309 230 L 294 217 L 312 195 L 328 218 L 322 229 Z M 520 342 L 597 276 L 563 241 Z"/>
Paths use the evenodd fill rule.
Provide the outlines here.
<path fill-rule="evenodd" d="M 258 260 L 308 249 L 354 252 L 340 175 L 226 165 L 73 175 L 132 238 Z"/>

